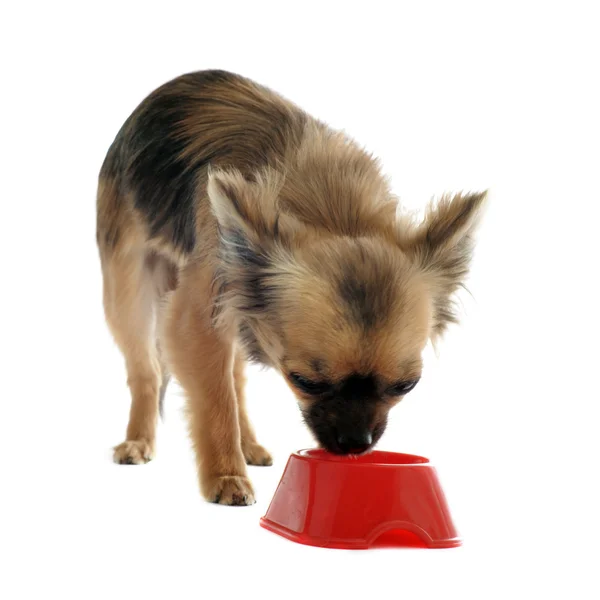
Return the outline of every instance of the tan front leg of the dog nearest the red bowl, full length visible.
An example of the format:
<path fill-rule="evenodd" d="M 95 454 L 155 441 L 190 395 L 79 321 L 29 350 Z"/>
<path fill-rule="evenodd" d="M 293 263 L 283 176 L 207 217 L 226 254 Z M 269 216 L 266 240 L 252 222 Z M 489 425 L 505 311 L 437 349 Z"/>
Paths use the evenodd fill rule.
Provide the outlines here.
<path fill-rule="evenodd" d="M 161 337 L 171 372 L 186 392 L 204 497 L 220 504 L 253 504 L 235 395 L 235 337 L 211 322 L 210 283 L 206 267 L 184 270 L 169 300 Z"/>

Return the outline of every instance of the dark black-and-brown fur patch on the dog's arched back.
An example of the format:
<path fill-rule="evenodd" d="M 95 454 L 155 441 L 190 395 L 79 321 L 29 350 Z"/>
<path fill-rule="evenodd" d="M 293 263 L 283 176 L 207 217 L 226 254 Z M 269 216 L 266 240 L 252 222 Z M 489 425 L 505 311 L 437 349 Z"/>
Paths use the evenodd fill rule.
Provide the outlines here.
<path fill-rule="evenodd" d="M 151 238 L 184 253 L 196 244 L 197 202 L 209 165 L 251 173 L 298 143 L 306 115 L 226 71 L 183 75 L 150 94 L 127 119 L 100 175 L 119 181 Z"/>

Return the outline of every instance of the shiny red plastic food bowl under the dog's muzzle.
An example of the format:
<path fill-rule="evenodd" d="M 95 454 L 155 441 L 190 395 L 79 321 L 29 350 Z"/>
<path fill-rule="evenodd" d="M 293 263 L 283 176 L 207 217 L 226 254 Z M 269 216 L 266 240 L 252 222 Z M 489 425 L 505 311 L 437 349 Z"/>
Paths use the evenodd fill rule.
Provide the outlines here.
<path fill-rule="evenodd" d="M 415 535 L 429 548 L 461 544 L 429 460 L 395 452 L 295 452 L 260 524 L 295 542 L 326 548 L 368 548 L 378 539 L 414 545 Z M 408 537 L 396 535 L 399 531 Z"/>

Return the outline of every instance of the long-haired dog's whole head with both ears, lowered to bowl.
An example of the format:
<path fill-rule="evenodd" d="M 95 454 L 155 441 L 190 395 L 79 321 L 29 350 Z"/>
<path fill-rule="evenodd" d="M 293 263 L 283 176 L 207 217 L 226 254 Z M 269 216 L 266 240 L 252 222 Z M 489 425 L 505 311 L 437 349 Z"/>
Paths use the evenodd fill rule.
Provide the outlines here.
<path fill-rule="evenodd" d="M 385 226 L 358 219 L 345 235 L 281 210 L 285 183 L 273 173 L 213 173 L 208 189 L 226 321 L 251 358 L 282 373 L 322 447 L 369 450 L 417 385 L 427 341 L 455 321 L 485 194 L 443 198 L 419 225 L 386 205 Z"/>

